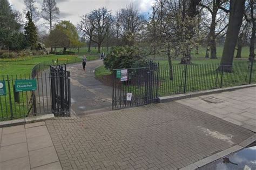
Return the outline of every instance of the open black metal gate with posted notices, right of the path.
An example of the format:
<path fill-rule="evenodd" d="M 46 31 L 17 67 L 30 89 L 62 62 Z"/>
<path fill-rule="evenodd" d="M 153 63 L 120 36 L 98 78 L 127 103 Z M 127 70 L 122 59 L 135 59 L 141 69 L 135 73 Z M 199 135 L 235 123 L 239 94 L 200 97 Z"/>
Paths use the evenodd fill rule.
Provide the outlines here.
<path fill-rule="evenodd" d="M 113 70 L 112 109 L 154 103 L 158 96 L 159 64 Z"/>

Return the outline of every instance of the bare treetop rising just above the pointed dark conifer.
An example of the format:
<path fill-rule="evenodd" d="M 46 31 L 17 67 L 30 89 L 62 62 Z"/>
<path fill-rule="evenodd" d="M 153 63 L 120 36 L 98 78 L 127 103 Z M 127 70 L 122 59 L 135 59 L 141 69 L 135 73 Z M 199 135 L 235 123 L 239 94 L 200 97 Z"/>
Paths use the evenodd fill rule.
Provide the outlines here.
<path fill-rule="evenodd" d="M 27 13 L 28 11 L 30 12 L 32 21 L 36 23 L 40 18 L 40 14 L 37 10 L 37 7 L 35 5 L 34 0 L 24 0 L 25 8 L 24 8 L 24 13 Z"/>

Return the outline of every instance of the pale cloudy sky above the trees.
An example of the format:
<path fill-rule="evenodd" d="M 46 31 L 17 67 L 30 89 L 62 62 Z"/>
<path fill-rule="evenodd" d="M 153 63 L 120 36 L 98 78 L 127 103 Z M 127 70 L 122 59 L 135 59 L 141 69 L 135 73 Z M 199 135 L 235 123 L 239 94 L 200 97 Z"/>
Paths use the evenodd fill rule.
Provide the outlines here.
<path fill-rule="evenodd" d="M 20 12 L 24 9 L 24 0 L 9 0 L 12 8 L 19 10 Z M 36 6 L 39 10 L 42 8 L 43 0 L 35 0 Z M 79 16 L 92 11 L 93 9 L 101 8 L 105 6 L 107 9 L 115 14 L 121 8 L 125 8 L 126 5 L 133 3 L 136 8 L 142 13 L 150 11 L 153 0 L 56 0 L 57 6 L 60 10 L 59 19 L 68 20 L 73 24 L 79 22 Z M 42 23 L 43 21 L 39 21 Z M 37 25 L 40 25 L 37 23 Z M 42 28 L 41 28 L 42 29 Z"/>

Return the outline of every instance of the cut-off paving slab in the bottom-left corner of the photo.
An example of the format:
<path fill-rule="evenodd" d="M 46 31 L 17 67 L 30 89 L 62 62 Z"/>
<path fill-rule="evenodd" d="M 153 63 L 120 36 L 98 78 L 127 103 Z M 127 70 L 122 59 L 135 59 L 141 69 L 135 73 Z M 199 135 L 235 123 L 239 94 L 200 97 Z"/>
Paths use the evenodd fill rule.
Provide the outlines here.
<path fill-rule="evenodd" d="M 30 170 L 29 157 L 12 159 L 0 162 L 0 169 L 3 170 Z"/>

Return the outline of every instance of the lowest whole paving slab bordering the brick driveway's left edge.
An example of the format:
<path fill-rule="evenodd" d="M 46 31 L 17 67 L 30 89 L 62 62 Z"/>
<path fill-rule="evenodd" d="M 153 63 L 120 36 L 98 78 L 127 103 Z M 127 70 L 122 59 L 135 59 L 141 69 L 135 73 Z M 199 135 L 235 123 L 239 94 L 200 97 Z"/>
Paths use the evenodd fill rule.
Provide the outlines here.
<path fill-rule="evenodd" d="M 50 164 L 59 160 L 53 146 L 30 151 L 29 157 L 31 168 Z"/>

